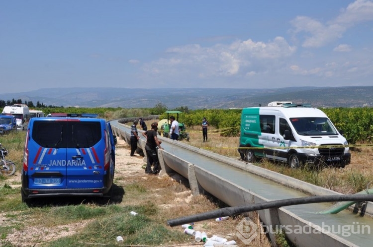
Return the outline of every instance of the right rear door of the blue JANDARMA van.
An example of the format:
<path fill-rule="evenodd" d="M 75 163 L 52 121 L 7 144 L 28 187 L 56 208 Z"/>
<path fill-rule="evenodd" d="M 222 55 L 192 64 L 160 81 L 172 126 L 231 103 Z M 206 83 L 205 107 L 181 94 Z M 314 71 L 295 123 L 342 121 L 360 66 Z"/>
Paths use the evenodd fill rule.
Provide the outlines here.
<path fill-rule="evenodd" d="M 103 188 L 104 152 L 103 121 L 69 118 L 67 148 L 67 188 Z"/>

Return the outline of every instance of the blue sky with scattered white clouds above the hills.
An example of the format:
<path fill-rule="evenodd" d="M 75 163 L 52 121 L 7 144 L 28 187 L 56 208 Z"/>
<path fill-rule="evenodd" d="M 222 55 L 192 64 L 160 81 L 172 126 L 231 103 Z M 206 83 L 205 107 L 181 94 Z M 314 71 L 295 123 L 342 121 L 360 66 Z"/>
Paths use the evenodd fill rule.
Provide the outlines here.
<path fill-rule="evenodd" d="M 0 83 L 373 86 L 373 0 L 0 0 Z"/>

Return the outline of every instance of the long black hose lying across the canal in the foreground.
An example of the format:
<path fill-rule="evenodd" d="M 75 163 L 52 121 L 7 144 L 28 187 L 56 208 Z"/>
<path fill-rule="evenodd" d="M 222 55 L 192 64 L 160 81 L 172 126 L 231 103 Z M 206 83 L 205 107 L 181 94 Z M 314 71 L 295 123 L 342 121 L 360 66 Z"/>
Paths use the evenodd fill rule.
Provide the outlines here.
<path fill-rule="evenodd" d="M 233 216 L 236 214 L 247 213 L 256 210 L 279 208 L 284 206 L 308 204 L 308 203 L 321 203 L 321 202 L 335 202 L 335 201 L 373 201 L 373 194 L 354 194 L 354 195 L 319 195 L 308 196 L 301 198 L 289 198 L 276 201 L 268 201 L 262 203 L 255 203 L 250 205 L 242 205 L 235 207 L 226 207 L 213 210 L 206 213 L 200 213 L 190 216 L 185 216 L 178 219 L 168 220 L 167 224 L 171 227 L 180 226 L 190 222 L 197 222 L 202 220 L 214 219 L 224 216 Z"/>

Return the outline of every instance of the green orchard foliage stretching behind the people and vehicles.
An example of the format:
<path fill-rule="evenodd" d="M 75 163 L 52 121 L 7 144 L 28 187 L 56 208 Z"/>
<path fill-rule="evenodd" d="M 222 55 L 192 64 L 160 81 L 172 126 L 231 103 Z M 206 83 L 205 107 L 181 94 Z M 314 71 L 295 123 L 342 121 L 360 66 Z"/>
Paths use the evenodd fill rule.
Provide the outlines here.
<path fill-rule="evenodd" d="M 348 140 L 349 144 L 371 143 L 373 141 L 373 108 L 319 108 L 323 111 Z M 155 108 L 124 109 L 124 108 L 75 108 L 53 107 L 38 108 L 46 115 L 49 113 L 95 113 L 104 119 L 119 119 L 130 117 L 145 117 L 150 114 L 164 113 L 162 104 Z M 175 110 L 175 109 L 174 109 Z M 239 136 L 242 109 L 208 109 L 185 110 L 179 117 L 179 122 L 187 127 L 200 126 L 205 117 L 208 124 L 220 131 L 222 136 Z M 161 114 L 159 119 L 166 119 L 167 114 Z"/>

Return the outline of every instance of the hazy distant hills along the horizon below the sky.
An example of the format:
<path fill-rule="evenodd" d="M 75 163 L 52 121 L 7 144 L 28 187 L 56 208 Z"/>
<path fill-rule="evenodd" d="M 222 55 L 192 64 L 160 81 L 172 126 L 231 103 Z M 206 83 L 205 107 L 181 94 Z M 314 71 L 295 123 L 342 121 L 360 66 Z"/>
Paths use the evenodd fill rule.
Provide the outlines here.
<path fill-rule="evenodd" d="M 369 87 L 286 87 L 248 88 L 43 88 L 35 91 L 0 94 L 7 101 L 21 99 L 44 105 L 79 107 L 151 108 L 162 103 L 169 109 L 244 108 L 272 101 L 310 103 L 314 107 L 373 106 Z"/>

